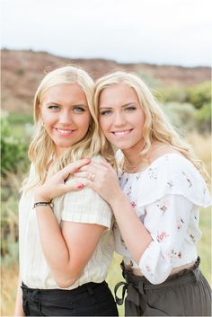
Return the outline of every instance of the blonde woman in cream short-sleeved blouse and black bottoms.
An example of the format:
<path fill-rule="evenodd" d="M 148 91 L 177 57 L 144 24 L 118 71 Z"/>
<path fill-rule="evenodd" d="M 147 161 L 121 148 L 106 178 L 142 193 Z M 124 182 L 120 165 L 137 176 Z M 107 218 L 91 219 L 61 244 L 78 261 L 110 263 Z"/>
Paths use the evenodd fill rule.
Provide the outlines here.
<path fill-rule="evenodd" d="M 73 178 L 87 163 L 112 163 L 100 155 L 92 103 L 93 79 L 76 66 L 50 72 L 35 94 L 16 316 L 118 315 L 105 282 L 114 251 L 111 209 Z"/>

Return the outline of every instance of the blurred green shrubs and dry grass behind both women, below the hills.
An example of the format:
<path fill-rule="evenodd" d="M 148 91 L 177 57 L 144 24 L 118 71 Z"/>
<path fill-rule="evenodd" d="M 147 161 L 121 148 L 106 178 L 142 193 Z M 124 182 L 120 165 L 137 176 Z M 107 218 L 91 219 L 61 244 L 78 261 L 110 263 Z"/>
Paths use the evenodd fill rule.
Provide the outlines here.
<path fill-rule="evenodd" d="M 22 72 L 20 71 L 20 75 Z M 210 173 L 211 147 L 211 84 L 204 82 L 193 86 L 164 86 L 151 75 L 141 74 L 164 112 L 181 135 L 193 145 L 199 158 Z M 18 201 L 22 180 L 29 169 L 27 149 L 33 131 L 32 115 L 2 111 L 1 118 L 1 176 L 2 176 L 2 315 L 13 314 L 18 274 Z M 201 269 L 210 283 L 210 225 L 209 210 L 200 216 L 203 232 L 199 242 L 202 257 Z M 119 255 L 115 255 L 110 267 L 108 282 L 111 289 L 122 280 Z M 8 282 L 6 282 L 8 281 Z M 119 308 L 123 315 L 123 307 Z"/>

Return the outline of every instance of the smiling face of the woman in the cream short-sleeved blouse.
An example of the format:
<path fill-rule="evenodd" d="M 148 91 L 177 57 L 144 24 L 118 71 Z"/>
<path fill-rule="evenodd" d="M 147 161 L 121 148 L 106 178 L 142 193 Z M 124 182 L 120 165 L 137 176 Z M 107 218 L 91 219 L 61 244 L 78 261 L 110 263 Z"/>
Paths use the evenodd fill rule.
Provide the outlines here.
<path fill-rule="evenodd" d="M 78 84 L 50 87 L 40 101 L 40 114 L 57 155 L 84 138 L 91 120 L 85 93 Z"/>

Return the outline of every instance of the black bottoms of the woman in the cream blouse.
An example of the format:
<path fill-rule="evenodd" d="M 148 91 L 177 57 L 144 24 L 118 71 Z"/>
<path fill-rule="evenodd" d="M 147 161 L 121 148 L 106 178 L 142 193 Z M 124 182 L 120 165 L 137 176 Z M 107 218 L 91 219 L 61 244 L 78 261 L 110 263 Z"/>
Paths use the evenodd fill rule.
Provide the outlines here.
<path fill-rule="evenodd" d="M 119 316 L 106 282 L 87 283 L 75 289 L 35 289 L 22 283 L 26 316 Z"/>

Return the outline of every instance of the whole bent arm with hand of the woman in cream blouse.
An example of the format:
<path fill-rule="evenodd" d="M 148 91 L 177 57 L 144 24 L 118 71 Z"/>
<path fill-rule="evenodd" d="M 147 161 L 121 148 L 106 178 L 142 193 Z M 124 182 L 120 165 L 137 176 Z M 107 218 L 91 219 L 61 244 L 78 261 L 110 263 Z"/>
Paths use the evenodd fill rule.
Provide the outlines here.
<path fill-rule="evenodd" d="M 68 191 L 83 189 L 82 183 L 66 183 L 68 175 L 83 164 L 67 165 L 65 169 L 50 177 L 36 190 L 35 202 L 48 202 Z M 73 285 L 92 257 L 105 227 L 66 221 L 62 222 L 60 228 L 49 205 L 38 206 L 35 212 L 43 253 L 57 286 L 63 288 Z"/>

